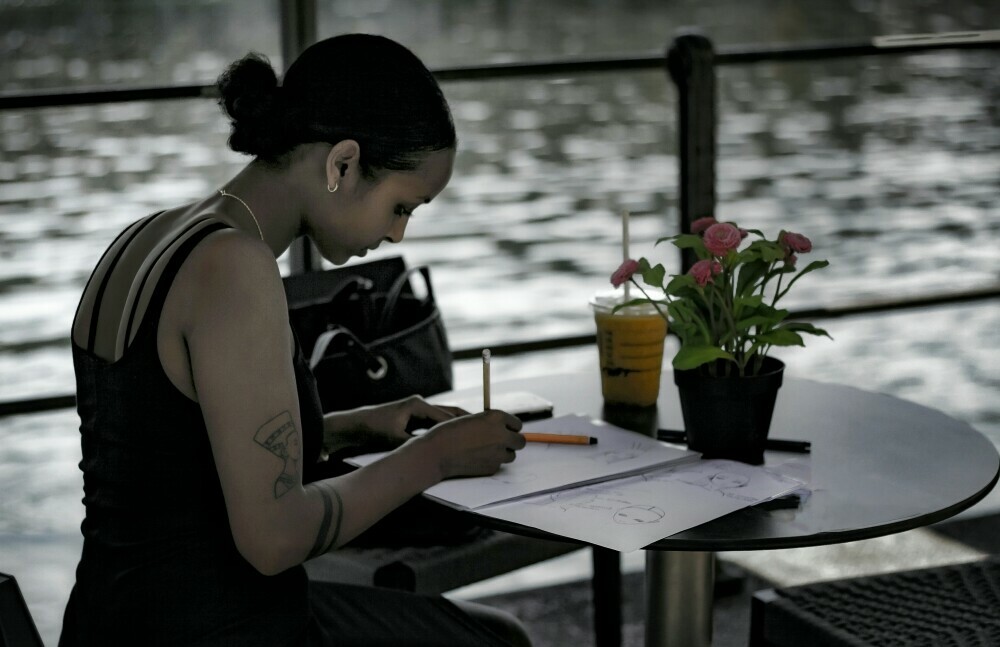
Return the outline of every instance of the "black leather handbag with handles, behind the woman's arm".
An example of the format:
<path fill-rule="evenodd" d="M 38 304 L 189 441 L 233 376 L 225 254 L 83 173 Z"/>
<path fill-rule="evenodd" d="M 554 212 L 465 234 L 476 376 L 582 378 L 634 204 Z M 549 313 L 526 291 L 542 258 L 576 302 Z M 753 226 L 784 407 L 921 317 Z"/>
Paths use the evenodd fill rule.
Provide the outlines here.
<path fill-rule="evenodd" d="M 411 279 L 423 278 L 423 296 Z M 452 388 L 430 270 L 398 256 L 284 279 L 289 319 L 324 412 Z"/>

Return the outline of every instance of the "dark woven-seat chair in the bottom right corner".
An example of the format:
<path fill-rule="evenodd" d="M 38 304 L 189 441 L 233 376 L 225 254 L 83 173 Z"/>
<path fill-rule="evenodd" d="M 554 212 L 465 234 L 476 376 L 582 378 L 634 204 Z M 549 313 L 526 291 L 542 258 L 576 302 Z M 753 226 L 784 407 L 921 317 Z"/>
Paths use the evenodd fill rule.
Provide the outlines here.
<path fill-rule="evenodd" d="M 750 647 L 1000 645 L 1000 555 L 754 594 Z"/>

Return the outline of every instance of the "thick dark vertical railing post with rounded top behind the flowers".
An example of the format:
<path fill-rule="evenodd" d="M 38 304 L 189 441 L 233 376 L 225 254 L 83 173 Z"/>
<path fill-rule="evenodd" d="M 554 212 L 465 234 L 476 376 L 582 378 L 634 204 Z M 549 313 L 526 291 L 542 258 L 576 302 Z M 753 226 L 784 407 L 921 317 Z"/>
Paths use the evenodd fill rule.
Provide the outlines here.
<path fill-rule="evenodd" d="M 712 41 L 682 33 L 667 48 L 667 72 L 677 86 L 677 156 L 680 167 L 680 231 L 691 222 L 715 215 L 715 51 Z M 685 249 L 681 271 L 697 259 Z"/>

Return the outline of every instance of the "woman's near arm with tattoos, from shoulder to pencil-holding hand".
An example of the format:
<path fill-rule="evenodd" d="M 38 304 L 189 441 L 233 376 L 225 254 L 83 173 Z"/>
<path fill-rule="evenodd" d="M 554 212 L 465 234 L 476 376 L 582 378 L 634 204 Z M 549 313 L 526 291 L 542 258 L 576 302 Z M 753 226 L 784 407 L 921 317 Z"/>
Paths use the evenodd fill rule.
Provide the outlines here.
<path fill-rule="evenodd" d="M 443 478 L 493 473 L 524 446 L 520 422 L 491 411 L 448 420 L 382 461 L 303 487 L 291 331 L 270 250 L 236 232 L 214 234 L 174 290 L 186 306 L 179 332 L 233 538 L 262 573 L 349 541 Z"/>

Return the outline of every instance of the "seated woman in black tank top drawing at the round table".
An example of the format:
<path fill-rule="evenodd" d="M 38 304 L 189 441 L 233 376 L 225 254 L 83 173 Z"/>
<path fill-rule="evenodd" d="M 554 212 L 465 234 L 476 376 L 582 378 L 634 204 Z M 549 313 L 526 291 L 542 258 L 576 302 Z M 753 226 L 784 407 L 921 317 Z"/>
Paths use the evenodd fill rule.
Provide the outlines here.
<path fill-rule="evenodd" d="M 364 256 L 447 184 L 437 83 L 406 48 L 348 35 L 306 50 L 280 87 L 249 55 L 219 90 L 230 146 L 253 161 L 126 228 L 74 320 L 86 518 L 60 644 L 527 644 L 499 612 L 309 583 L 301 566 L 524 446 L 510 415 L 419 398 L 324 418 L 289 329 L 275 259 L 298 235 L 333 263 Z M 434 426 L 410 438 L 411 418 Z M 359 434 L 398 449 L 303 484 L 303 465 Z"/>

